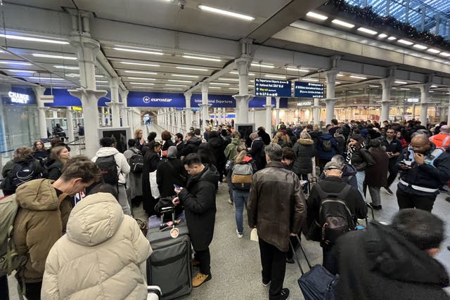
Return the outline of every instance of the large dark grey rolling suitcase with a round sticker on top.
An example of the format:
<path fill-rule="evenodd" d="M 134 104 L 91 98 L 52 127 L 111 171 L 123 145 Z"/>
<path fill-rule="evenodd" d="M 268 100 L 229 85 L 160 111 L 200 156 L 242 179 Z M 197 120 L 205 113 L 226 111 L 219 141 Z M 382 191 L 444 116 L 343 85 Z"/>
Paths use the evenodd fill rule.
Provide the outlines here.
<path fill-rule="evenodd" d="M 173 207 L 165 207 L 161 213 L 172 214 L 174 223 Z M 191 238 L 188 226 L 186 222 L 180 222 L 176 226 L 172 223 L 161 223 L 158 228 L 149 228 L 147 234 L 153 249 L 147 259 L 147 282 L 161 288 L 162 299 L 174 299 L 192 291 Z"/>

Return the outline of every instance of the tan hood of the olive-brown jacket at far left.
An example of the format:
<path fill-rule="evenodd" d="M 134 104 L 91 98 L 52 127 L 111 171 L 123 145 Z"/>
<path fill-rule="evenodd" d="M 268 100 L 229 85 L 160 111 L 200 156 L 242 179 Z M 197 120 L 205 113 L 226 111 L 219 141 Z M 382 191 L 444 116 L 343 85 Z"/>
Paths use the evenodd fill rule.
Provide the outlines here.
<path fill-rule="evenodd" d="M 20 207 L 32 211 L 52 211 L 58 209 L 60 202 L 68 194 L 56 195 L 49 179 L 35 179 L 20 185 L 15 191 L 15 199 Z"/>

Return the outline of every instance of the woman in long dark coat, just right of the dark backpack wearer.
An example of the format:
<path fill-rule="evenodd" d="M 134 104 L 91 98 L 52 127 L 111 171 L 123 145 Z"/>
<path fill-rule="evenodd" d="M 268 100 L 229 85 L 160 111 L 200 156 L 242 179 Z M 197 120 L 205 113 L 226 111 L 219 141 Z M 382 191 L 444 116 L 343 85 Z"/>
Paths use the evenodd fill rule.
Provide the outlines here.
<path fill-rule="evenodd" d="M 142 148 L 143 167 L 142 167 L 142 197 L 143 209 L 148 216 L 155 214 L 155 204 L 158 202 L 153 197 L 150 189 L 150 172 L 153 172 L 158 167 L 160 162 L 161 144 L 158 142 L 151 142 L 147 147 Z"/>

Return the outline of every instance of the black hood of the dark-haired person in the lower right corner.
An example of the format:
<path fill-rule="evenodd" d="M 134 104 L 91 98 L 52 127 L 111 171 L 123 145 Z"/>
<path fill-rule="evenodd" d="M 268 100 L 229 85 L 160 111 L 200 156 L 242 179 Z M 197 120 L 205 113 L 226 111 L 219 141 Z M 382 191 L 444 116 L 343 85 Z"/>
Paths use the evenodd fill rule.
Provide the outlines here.
<path fill-rule="evenodd" d="M 418 284 L 449 285 L 444 266 L 427 252 L 406 240 L 397 230 L 378 222 L 371 222 L 364 237 L 364 252 L 371 270 L 387 278 Z"/>

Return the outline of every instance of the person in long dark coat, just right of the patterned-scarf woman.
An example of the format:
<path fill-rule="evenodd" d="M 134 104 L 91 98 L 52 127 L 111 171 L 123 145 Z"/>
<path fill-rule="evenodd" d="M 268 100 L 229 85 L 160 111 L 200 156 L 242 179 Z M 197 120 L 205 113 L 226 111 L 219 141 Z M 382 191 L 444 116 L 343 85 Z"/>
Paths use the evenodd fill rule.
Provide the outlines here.
<path fill-rule="evenodd" d="M 380 140 L 371 140 L 369 147 L 368 152 L 375 161 L 375 164 L 366 168 L 364 185 L 368 186 L 368 192 L 371 193 L 371 205 L 373 209 L 381 209 L 380 188 L 387 184 L 389 157 L 385 148 L 381 147 Z"/>

